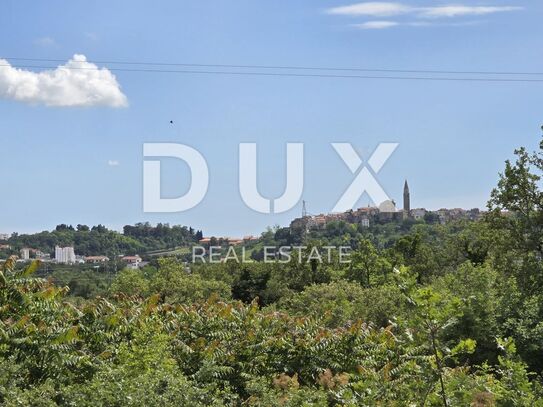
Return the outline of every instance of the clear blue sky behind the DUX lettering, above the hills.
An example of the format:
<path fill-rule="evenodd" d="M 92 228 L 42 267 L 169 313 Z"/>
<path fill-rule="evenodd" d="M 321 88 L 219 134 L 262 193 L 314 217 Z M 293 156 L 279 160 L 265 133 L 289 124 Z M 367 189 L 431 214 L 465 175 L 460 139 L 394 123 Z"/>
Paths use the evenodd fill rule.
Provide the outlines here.
<path fill-rule="evenodd" d="M 7 0 L 0 59 L 543 72 L 540 1 L 342 8 L 355 3 Z M 242 202 L 240 142 L 258 143 L 259 187 L 269 197 L 284 187 L 285 143 L 305 143 L 311 213 L 330 211 L 353 179 L 332 142 L 366 158 L 380 142 L 399 143 L 378 175 L 398 202 L 407 178 L 415 207 L 484 207 L 503 161 L 517 146 L 535 148 L 543 123 L 543 83 L 113 74 L 126 103 L 111 94 L 79 107 L 0 98 L 0 232 L 148 220 L 241 236 L 287 225 L 301 202 L 271 215 Z M 206 157 L 200 205 L 143 213 L 144 142 L 185 143 Z M 180 162 L 165 162 L 163 178 L 166 194 L 188 187 Z"/>

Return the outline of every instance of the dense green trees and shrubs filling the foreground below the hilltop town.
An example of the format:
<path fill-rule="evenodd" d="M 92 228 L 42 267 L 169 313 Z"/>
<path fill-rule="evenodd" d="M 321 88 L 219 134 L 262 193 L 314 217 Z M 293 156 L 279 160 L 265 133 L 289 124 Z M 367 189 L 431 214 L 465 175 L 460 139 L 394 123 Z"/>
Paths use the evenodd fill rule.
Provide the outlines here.
<path fill-rule="evenodd" d="M 543 406 L 543 143 L 516 154 L 481 221 L 304 242 L 353 244 L 350 264 L 171 257 L 76 298 L 11 258 L 0 403 Z"/>

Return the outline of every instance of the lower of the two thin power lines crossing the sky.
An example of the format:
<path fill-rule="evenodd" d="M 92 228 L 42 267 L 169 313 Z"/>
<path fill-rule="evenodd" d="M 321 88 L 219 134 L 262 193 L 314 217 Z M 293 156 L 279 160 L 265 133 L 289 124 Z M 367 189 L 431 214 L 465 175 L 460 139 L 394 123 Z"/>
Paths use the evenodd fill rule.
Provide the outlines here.
<path fill-rule="evenodd" d="M 10 65 L 0 64 L 0 67 L 12 68 L 35 68 L 35 69 L 56 69 L 55 66 L 43 65 Z M 67 67 L 62 69 L 70 70 L 91 70 L 98 71 L 103 68 L 90 67 Z M 389 79 L 389 80 L 415 80 L 415 81 L 449 81 L 449 82 L 525 82 L 541 83 L 543 79 L 533 78 L 473 78 L 473 77 L 431 77 L 431 76 L 378 76 L 378 75 L 339 75 L 339 74 L 310 74 L 292 72 L 239 72 L 239 71 L 204 71 L 204 70 L 170 70 L 170 69 L 138 69 L 138 68 L 110 68 L 114 72 L 145 72 L 145 73 L 179 73 L 195 75 L 233 75 L 233 76 L 268 76 L 268 77 L 298 77 L 298 78 L 339 78 L 339 79 Z"/>

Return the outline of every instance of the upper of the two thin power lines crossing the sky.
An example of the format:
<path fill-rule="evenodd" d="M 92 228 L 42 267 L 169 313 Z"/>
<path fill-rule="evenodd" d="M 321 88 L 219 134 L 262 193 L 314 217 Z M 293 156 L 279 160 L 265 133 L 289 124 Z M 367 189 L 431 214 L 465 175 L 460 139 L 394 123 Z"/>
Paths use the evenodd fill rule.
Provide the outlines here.
<path fill-rule="evenodd" d="M 49 58 L 16 58 L 2 57 L 0 59 L 31 62 L 66 62 L 65 59 Z M 283 69 L 283 70 L 312 70 L 312 71 L 351 71 L 351 72 L 390 72 L 390 73 L 423 73 L 423 74 L 449 74 L 449 75 L 543 75 L 543 72 L 513 72 L 513 71 L 460 71 L 460 70 L 433 70 L 433 69 L 387 69 L 387 68 L 361 68 L 361 67 L 315 67 L 299 65 L 249 65 L 249 64 L 201 64 L 181 62 L 137 62 L 137 61 L 110 61 L 87 60 L 93 64 L 113 65 L 142 65 L 142 66 L 184 66 L 200 68 L 247 68 L 247 69 Z"/>

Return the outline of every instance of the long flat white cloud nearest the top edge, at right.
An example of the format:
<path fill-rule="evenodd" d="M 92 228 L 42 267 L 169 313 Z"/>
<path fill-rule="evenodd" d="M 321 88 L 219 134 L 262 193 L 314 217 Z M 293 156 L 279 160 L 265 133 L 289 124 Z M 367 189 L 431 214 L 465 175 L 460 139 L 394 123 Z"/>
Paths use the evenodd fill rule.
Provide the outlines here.
<path fill-rule="evenodd" d="M 417 17 L 459 17 L 459 16 L 480 16 L 486 14 L 501 13 L 506 11 L 522 10 L 518 6 L 430 6 L 413 7 L 402 3 L 393 2 L 365 2 L 348 6 L 333 7 L 327 10 L 328 14 L 345 16 L 371 16 L 390 17 L 404 14 L 411 14 Z"/>

